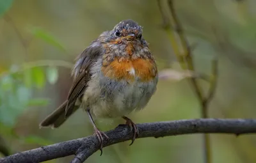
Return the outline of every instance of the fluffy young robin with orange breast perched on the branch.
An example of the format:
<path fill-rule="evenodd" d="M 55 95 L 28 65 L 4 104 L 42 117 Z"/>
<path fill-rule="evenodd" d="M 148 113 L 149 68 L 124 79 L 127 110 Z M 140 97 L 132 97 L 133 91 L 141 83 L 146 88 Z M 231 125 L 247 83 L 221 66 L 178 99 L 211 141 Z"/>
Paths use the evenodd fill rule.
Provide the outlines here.
<path fill-rule="evenodd" d="M 123 20 L 103 32 L 77 57 L 72 77 L 67 100 L 40 127 L 58 128 L 82 108 L 92 122 L 101 153 L 103 137 L 108 136 L 96 127 L 93 118 L 124 118 L 133 131 L 133 143 L 138 128 L 127 114 L 148 104 L 158 82 L 156 62 L 142 27 L 133 20 Z"/>

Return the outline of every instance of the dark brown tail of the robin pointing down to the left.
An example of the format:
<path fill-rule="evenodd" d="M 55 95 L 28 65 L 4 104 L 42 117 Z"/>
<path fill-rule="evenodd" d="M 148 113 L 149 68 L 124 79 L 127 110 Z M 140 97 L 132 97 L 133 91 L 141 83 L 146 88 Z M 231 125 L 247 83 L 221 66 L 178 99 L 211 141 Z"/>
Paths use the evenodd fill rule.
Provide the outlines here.
<path fill-rule="evenodd" d="M 72 115 L 72 114 L 68 114 L 67 117 L 65 117 L 65 109 L 67 107 L 68 101 L 66 100 L 65 102 L 63 102 L 63 104 L 60 105 L 60 107 L 58 107 L 58 109 L 56 109 L 55 111 L 53 111 L 51 114 L 49 114 L 49 116 L 47 116 L 40 124 L 39 127 L 52 127 L 52 128 L 58 128 L 60 127 L 60 125 L 62 125 L 67 118 Z M 74 111 L 72 113 L 74 113 L 76 110 L 78 109 L 78 107 L 74 107 Z"/>

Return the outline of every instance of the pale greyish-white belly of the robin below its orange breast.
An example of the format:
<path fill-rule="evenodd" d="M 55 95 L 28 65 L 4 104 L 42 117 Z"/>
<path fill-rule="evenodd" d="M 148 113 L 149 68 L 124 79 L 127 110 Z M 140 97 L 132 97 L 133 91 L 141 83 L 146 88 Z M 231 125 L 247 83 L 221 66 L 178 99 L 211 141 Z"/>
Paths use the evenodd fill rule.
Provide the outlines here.
<path fill-rule="evenodd" d="M 116 118 L 147 105 L 156 91 L 157 78 L 150 82 L 114 81 L 102 74 L 93 75 L 83 97 L 84 107 L 99 118 Z"/>

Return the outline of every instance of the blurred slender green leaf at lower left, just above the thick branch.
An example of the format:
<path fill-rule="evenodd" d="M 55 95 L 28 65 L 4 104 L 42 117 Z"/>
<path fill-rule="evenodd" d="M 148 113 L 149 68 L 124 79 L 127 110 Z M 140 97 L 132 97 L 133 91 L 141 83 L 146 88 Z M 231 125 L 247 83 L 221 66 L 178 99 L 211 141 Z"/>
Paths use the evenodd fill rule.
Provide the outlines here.
<path fill-rule="evenodd" d="M 38 137 L 38 136 L 20 137 L 20 141 L 22 141 L 23 143 L 39 144 L 39 145 L 43 145 L 43 146 L 47 146 L 49 144 L 52 144 L 51 141 L 48 141 L 47 139 L 44 139 L 44 138 Z"/>

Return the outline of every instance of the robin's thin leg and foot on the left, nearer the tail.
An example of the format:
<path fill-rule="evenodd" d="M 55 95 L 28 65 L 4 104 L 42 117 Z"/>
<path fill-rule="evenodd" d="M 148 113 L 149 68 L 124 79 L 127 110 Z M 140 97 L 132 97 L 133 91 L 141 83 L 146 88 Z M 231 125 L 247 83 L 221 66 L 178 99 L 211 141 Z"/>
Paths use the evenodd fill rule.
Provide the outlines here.
<path fill-rule="evenodd" d="M 97 136 L 97 138 L 99 139 L 99 142 L 100 142 L 100 155 L 102 155 L 102 148 L 103 148 L 103 137 L 106 137 L 106 139 L 108 140 L 109 137 L 104 133 L 104 132 L 101 132 L 95 125 L 95 122 L 93 121 L 93 118 L 92 118 L 92 114 L 90 113 L 90 108 L 87 108 L 86 109 L 86 113 L 88 114 L 89 116 L 89 119 L 90 121 L 92 122 L 92 125 L 93 125 L 93 129 L 94 129 L 94 134 Z"/>

